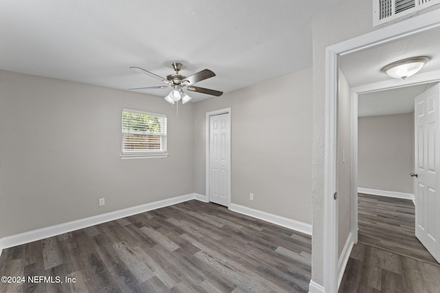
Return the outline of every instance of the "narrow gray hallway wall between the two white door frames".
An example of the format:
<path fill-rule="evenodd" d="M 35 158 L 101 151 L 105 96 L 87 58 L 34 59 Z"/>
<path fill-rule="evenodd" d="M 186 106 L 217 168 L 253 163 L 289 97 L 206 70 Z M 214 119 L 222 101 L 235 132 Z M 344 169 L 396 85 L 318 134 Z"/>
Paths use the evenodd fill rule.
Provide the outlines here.
<path fill-rule="evenodd" d="M 351 231 L 351 90 L 339 72 L 338 105 L 338 245 L 342 253 Z M 344 154 L 343 154 L 344 152 Z"/>

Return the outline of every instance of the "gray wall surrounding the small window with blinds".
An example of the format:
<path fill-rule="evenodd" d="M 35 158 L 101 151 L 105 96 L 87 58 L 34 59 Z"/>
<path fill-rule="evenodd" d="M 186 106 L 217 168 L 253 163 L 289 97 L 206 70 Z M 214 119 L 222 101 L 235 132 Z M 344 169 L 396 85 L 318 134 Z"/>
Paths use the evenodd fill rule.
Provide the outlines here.
<path fill-rule="evenodd" d="M 122 108 L 168 115 L 168 158 L 120 159 Z M 177 119 L 160 97 L 0 71 L 0 237 L 191 194 L 192 116 L 192 103 Z"/>

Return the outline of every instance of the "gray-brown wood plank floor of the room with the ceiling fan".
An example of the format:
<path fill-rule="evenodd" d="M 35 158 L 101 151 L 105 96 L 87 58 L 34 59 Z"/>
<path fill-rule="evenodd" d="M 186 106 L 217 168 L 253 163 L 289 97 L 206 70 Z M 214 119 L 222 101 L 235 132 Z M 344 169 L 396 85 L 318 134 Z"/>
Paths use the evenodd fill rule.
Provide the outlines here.
<path fill-rule="evenodd" d="M 25 277 L 0 292 L 308 292 L 311 237 L 192 200 L 5 249 L 0 276 Z"/>

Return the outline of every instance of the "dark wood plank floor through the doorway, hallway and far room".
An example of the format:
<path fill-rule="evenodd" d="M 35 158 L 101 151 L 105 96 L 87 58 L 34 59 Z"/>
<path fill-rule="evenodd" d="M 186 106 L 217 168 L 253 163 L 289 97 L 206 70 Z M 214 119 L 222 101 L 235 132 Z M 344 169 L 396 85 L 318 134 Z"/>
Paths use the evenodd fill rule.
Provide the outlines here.
<path fill-rule="evenodd" d="M 411 200 L 359 194 L 358 222 L 340 293 L 440 292 L 440 265 L 415 237 Z"/>

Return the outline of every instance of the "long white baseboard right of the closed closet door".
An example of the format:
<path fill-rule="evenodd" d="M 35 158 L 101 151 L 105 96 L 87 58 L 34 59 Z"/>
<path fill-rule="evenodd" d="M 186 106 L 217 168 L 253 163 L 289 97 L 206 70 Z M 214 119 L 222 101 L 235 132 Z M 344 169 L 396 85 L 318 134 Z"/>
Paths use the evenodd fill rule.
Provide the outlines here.
<path fill-rule="evenodd" d="M 279 215 L 274 215 L 272 213 L 266 213 L 265 211 L 259 211 L 256 209 L 251 209 L 249 207 L 244 207 L 240 204 L 230 204 L 229 209 L 235 211 L 236 213 L 242 213 L 243 215 L 249 215 L 252 218 L 257 218 L 272 224 L 277 224 L 285 228 L 289 228 L 307 235 L 311 235 L 311 224 L 305 224 L 303 222 L 298 222 L 289 218 L 284 218 Z"/>

